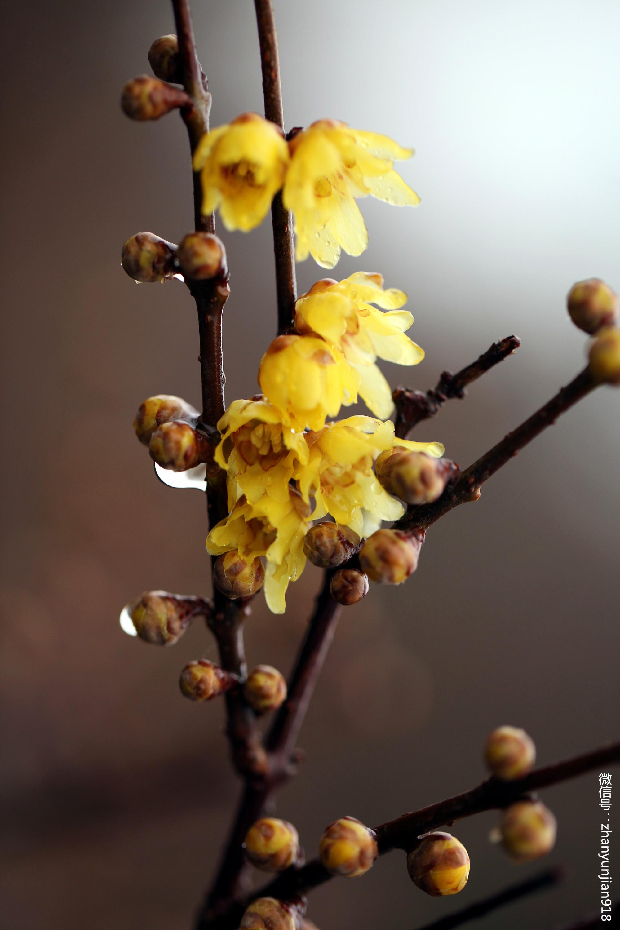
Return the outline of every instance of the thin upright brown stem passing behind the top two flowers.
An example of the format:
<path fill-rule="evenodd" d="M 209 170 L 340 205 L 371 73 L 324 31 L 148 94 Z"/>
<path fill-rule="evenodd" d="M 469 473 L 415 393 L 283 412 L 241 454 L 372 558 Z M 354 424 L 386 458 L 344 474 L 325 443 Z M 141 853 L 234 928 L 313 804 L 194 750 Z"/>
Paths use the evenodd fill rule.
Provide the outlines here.
<path fill-rule="evenodd" d="M 273 7 L 271 6 L 271 0 L 254 0 L 254 6 L 257 11 L 265 118 L 279 126 L 284 133 L 280 59 Z M 290 211 L 284 209 L 282 193 L 277 193 L 273 198 L 271 223 L 273 226 L 273 253 L 275 256 L 275 281 L 278 299 L 278 332 L 282 333 L 292 325 L 297 299 L 293 218 Z"/>

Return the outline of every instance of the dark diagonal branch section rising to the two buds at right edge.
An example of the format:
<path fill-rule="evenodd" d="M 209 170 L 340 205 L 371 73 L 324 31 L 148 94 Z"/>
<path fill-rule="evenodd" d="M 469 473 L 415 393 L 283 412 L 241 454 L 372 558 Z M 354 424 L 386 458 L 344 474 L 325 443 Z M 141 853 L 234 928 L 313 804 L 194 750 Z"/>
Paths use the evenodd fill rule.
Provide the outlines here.
<path fill-rule="evenodd" d="M 577 401 L 582 400 L 596 387 L 596 382 L 587 368 L 584 369 L 569 385 L 552 397 L 550 401 L 537 410 L 532 417 L 526 419 L 513 432 L 508 434 L 501 442 L 494 445 L 485 455 L 461 472 L 455 483 L 446 487 L 442 497 L 432 504 L 422 504 L 411 508 L 394 525 L 395 529 L 427 529 L 445 513 L 450 512 L 459 504 L 480 497 L 480 486 L 495 474 L 503 465 L 517 455 L 517 453 L 536 436 L 553 426 L 558 417 L 569 410 Z"/>

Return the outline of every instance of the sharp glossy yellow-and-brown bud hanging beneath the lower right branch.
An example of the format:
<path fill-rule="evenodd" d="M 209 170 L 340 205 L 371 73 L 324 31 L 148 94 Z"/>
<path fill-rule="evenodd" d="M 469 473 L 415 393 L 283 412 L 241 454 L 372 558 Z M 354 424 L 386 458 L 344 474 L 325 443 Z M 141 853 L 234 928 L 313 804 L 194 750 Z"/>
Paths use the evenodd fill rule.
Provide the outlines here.
<path fill-rule="evenodd" d="M 468 851 L 455 836 L 435 830 L 420 837 L 409 853 L 407 871 L 412 882 L 427 895 L 456 895 L 468 883 Z"/>

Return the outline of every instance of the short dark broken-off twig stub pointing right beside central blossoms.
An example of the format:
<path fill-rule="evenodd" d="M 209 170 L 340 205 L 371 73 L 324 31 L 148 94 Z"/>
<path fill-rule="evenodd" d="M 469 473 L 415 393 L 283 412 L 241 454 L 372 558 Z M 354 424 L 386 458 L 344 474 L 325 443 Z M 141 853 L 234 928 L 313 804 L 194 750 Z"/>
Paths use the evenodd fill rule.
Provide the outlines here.
<path fill-rule="evenodd" d="M 461 368 L 455 375 L 450 371 L 442 372 L 437 386 L 430 388 L 426 393 L 412 391 L 409 388 L 396 388 L 393 397 L 396 405 L 396 435 L 399 439 L 405 439 L 407 433 L 423 419 L 434 417 L 447 400 L 452 400 L 453 397 L 465 397 L 468 384 L 479 379 L 494 365 L 503 362 L 520 345 L 521 339 L 516 336 L 507 336 L 500 342 L 494 342 L 491 348 L 482 352 L 475 362 Z"/>

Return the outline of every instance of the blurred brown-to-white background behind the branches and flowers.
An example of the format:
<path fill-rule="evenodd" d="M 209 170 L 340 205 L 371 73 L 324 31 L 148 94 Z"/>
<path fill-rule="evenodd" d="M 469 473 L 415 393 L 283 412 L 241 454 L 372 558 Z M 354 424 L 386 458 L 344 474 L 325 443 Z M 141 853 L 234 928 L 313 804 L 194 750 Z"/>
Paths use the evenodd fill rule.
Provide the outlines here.
<path fill-rule="evenodd" d="M 260 111 L 253 5 L 193 7 L 213 125 Z M 275 9 L 287 126 L 333 116 L 416 147 L 402 174 L 421 206 L 364 201 L 370 246 L 336 268 L 409 294 L 427 357 L 389 378 L 426 389 L 494 339 L 522 339 L 418 430 L 466 465 L 583 365 L 569 286 L 620 286 L 620 7 Z M 132 233 L 178 241 L 191 226 L 178 116 L 139 125 L 119 108 L 172 14 L 165 0 L 34 0 L 6 3 L 3 23 L 3 925 L 187 930 L 239 790 L 221 704 L 178 693 L 182 665 L 215 649 L 198 626 L 170 650 L 118 626 L 140 591 L 208 593 L 204 500 L 160 485 L 131 429 L 154 392 L 198 402 L 195 312 L 182 285 L 135 286 L 119 259 Z M 257 390 L 274 332 L 270 234 L 224 235 L 229 402 Z M 310 260 L 297 273 L 301 290 L 323 276 Z M 310 856 L 335 817 L 375 824 L 479 782 L 497 724 L 524 726 L 543 764 L 617 735 L 619 420 L 620 392 L 589 396 L 432 528 L 406 586 L 345 612 L 302 733 L 308 762 L 279 804 Z M 251 663 L 289 670 L 318 582 L 310 566 L 284 617 L 257 599 Z M 570 881 L 481 926 L 545 930 L 597 908 L 597 775 L 544 793 L 560 822 L 549 861 Z M 538 870 L 489 844 L 495 820 L 455 828 L 471 857 L 458 897 L 426 897 L 392 854 L 319 889 L 309 916 L 415 930 Z"/>

